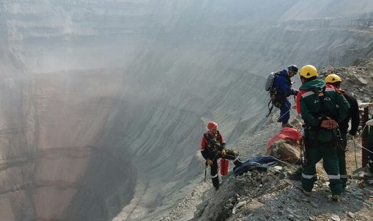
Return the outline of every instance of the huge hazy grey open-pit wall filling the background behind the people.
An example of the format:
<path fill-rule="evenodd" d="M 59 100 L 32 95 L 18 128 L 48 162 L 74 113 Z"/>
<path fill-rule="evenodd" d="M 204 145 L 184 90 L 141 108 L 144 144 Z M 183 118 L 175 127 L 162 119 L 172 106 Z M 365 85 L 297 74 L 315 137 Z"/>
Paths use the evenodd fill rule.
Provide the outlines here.
<path fill-rule="evenodd" d="M 264 124 L 267 73 L 372 53 L 372 32 L 292 13 L 304 2 L 1 1 L 0 220 L 172 206 L 202 172 L 209 119 L 228 146 Z"/>

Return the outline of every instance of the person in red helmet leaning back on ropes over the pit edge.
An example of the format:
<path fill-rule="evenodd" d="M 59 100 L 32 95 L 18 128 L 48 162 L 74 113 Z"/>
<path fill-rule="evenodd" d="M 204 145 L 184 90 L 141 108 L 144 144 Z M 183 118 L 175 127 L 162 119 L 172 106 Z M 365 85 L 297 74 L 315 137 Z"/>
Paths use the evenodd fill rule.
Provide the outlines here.
<path fill-rule="evenodd" d="M 212 185 L 214 185 L 216 191 L 219 190 L 218 158 L 233 160 L 236 167 L 242 165 L 241 160 L 238 158 L 238 153 L 226 150 L 225 147 L 226 142 L 218 131 L 218 124 L 214 121 L 209 121 L 207 131 L 203 134 L 201 141 L 201 154 L 206 160 L 206 166 L 211 168 Z"/>

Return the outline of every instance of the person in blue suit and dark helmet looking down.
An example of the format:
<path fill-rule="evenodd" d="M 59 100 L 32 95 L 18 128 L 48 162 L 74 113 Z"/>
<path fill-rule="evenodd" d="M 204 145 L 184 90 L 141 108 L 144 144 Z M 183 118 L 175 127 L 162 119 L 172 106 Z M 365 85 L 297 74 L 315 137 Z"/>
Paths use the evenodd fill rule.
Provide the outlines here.
<path fill-rule="evenodd" d="M 274 78 L 274 83 L 272 88 L 276 91 L 275 103 L 274 105 L 280 109 L 280 119 L 282 122 L 282 127 L 291 127 L 293 125 L 289 124 L 290 119 L 290 108 L 291 102 L 288 98 L 290 95 L 297 95 L 298 90 L 291 88 L 291 78 L 298 73 L 298 67 L 295 65 L 288 66 L 288 71 L 283 69 L 279 72 L 278 76 Z"/>

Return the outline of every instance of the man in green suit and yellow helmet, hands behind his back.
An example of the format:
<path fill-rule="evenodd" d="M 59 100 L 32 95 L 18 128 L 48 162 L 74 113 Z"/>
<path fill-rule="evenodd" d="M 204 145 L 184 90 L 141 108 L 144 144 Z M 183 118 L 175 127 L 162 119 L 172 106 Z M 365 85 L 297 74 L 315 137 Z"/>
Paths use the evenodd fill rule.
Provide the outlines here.
<path fill-rule="evenodd" d="M 301 179 L 303 193 L 311 195 L 317 179 L 316 164 L 323 160 L 331 198 L 338 201 L 342 193 L 336 154 L 338 122 L 346 119 L 350 105 L 341 92 L 317 78 L 319 73 L 314 66 L 303 66 L 299 75 L 302 85 L 296 103 L 305 121 L 303 142 L 307 151 L 307 164 L 303 167 Z"/>

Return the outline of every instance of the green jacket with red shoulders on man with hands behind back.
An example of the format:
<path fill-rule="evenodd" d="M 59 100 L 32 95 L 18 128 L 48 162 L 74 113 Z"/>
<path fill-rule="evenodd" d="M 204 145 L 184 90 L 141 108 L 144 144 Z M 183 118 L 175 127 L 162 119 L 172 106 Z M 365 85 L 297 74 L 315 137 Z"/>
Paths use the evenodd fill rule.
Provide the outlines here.
<path fill-rule="evenodd" d="M 330 117 L 337 123 L 346 119 L 350 108 L 346 98 L 332 85 L 326 85 L 325 81 L 320 78 L 302 84 L 299 90 L 300 114 L 305 124 L 310 127 L 305 134 L 306 138 L 322 142 L 334 140 L 336 138 L 334 130 L 320 127 L 321 118 Z"/>

